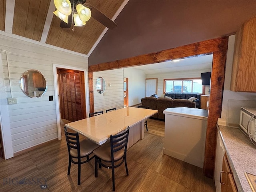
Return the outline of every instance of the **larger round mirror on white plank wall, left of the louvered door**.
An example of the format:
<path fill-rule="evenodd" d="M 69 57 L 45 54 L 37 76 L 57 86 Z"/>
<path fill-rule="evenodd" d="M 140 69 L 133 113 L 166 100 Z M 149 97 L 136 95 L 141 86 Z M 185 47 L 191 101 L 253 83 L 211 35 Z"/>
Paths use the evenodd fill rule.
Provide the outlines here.
<path fill-rule="evenodd" d="M 38 88 L 39 87 L 36 87 L 35 86 L 35 83 L 36 83 L 36 80 L 35 80 L 35 78 L 36 78 L 36 76 L 34 76 L 34 73 L 39 73 L 39 74 L 41 74 L 42 75 L 42 78 L 44 78 L 44 81 L 45 81 L 45 89 L 44 89 L 44 92 L 42 93 L 42 94 L 39 94 L 39 96 L 35 96 L 35 92 L 42 92 L 42 91 L 40 91 L 40 90 L 38 90 Z M 29 74 L 33 74 L 33 77 L 29 77 L 28 75 Z M 34 84 L 34 86 L 30 86 L 30 88 L 32 89 L 32 90 L 34 90 L 33 92 L 34 92 L 34 96 L 31 94 L 28 94 L 28 90 L 26 91 L 26 89 L 24 89 L 24 87 L 28 87 L 28 84 L 26 85 L 26 84 L 24 84 L 23 82 L 24 82 L 24 78 L 29 78 L 29 82 L 33 82 L 33 84 Z M 31 78 L 33 78 L 32 80 L 31 80 Z M 26 80 L 26 82 L 27 82 L 28 80 Z M 28 97 L 30 97 L 30 98 L 39 98 L 39 97 L 41 97 L 41 96 L 43 96 L 45 93 L 46 93 L 46 90 L 47 90 L 47 80 L 46 80 L 46 78 L 45 78 L 45 76 L 40 72 L 40 71 L 38 71 L 38 70 L 35 70 L 35 69 L 30 69 L 30 70 L 27 70 L 27 71 L 25 71 L 21 76 L 20 76 L 20 89 L 22 90 L 22 92 L 26 95 L 26 96 L 28 96 Z M 40 88 L 44 88 L 44 87 L 40 87 Z M 37 90 L 36 90 L 37 89 Z"/>

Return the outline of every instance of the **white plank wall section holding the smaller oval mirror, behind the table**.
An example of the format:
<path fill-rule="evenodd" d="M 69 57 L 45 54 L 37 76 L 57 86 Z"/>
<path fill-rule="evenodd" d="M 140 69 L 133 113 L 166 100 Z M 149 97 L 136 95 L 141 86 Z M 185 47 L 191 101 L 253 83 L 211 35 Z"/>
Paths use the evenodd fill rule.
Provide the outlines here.
<path fill-rule="evenodd" d="M 96 91 L 95 82 L 98 77 L 103 77 L 106 82 L 106 90 L 100 94 Z M 94 112 L 104 111 L 110 108 L 124 107 L 124 70 L 114 69 L 93 72 Z M 111 84 L 111 86 L 109 86 Z"/>

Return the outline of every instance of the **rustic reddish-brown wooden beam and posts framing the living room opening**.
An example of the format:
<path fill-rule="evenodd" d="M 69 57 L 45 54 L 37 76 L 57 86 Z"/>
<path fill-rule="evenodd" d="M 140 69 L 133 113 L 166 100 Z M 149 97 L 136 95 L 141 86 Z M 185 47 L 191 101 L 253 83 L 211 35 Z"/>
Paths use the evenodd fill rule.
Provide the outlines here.
<path fill-rule="evenodd" d="M 210 106 L 208 110 L 208 123 L 206 131 L 206 145 L 203 168 L 204 175 L 213 178 L 217 138 L 216 123 L 218 118 L 220 118 L 221 116 L 227 50 L 228 36 L 225 36 L 221 38 L 180 46 L 177 48 L 163 50 L 160 52 L 154 52 L 132 58 L 92 65 L 89 66 L 89 74 L 96 71 L 159 63 L 176 58 L 192 57 L 202 54 L 213 54 L 212 77 L 210 86 Z M 92 81 L 92 78 L 89 78 L 90 104 L 94 104 Z"/>

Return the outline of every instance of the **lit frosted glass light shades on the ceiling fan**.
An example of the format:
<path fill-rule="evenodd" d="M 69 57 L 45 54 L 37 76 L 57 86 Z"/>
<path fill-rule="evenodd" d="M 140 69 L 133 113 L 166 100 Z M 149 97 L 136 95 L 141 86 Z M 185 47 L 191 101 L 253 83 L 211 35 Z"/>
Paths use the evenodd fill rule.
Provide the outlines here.
<path fill-rule="evenodd" d="M 72 14 L 72 24 L 74 26 L 85 25 L 86 21 L 88 21 L 92 16 L 91 10 L 88 7 L 85 7 L 83 4 L 79 4 L 79 1 L 77 0 L 72 0 L 72 2 L 73 5 L 71 6 L 69 0 L 54 0 L 54 5 L 57 10 L 53 13 L 67 24 L 68 16 Z M 76 8 L 74 4 L 76 4 Z"/>

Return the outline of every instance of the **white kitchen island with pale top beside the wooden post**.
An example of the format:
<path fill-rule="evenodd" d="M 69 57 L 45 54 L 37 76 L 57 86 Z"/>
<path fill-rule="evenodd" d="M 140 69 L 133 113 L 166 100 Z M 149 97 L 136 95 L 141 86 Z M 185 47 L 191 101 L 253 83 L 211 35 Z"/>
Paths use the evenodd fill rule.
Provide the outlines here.
<path fill-rule="evenodd" d="M 208 110 L 167 108 L 164 154 L 203 168 Z"/>

